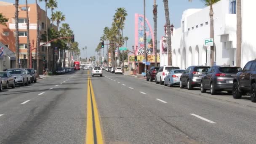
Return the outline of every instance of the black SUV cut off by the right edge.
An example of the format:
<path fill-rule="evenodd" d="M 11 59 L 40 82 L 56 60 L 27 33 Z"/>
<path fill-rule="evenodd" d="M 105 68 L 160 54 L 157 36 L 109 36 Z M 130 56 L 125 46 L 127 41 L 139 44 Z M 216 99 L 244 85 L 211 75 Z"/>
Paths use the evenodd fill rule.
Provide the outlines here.
<path fill-rule="evenodd" d="M 256 102 L 256 60 L 249 61 L 243 71 L 236 74 L 232 91 L 234 99 L 251 93 L 251 101 Z"/>

